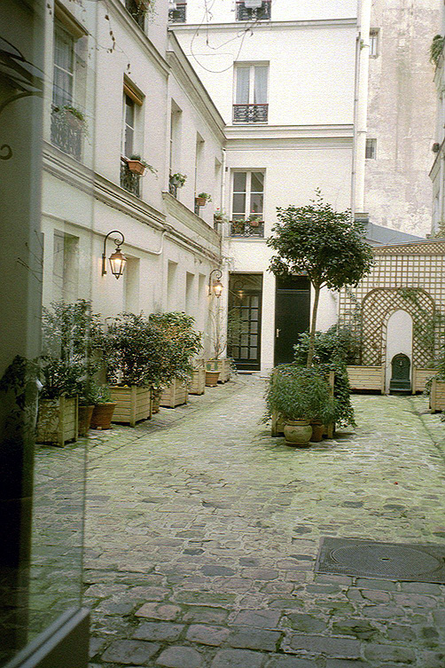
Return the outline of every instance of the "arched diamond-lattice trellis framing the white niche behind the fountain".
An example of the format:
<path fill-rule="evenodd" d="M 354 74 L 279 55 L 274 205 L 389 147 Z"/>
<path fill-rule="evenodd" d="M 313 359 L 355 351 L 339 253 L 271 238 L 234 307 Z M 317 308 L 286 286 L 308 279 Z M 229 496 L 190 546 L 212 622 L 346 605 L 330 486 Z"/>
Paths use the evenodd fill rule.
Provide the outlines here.
<path fill-rule="evenodd" d="M 362 303 L 363 365 L 385 364 L 387 323 L 396 310 L 407 311 L 414 323 L 412 363 L 425 366 L 430 362 L 434 352 L 433 297 L 420 287 L 377 287 L 365 295 Z"/>

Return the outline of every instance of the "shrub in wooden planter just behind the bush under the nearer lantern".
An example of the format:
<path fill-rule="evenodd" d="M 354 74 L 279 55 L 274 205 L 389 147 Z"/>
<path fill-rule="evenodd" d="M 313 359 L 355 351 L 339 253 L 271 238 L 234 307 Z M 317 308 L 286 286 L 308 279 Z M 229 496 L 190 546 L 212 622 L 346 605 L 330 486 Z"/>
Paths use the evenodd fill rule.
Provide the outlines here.
<path fill-rule="evenodd" d="M 149 322 L 160 328 L 165 339 L 156 385 L 161 389 L 160 405 L 175 408 L 187 402 L 191 360 L 202 348 L 201 334 L 194 329 L 194 318 L 182 311 L 152 313 Z"/>

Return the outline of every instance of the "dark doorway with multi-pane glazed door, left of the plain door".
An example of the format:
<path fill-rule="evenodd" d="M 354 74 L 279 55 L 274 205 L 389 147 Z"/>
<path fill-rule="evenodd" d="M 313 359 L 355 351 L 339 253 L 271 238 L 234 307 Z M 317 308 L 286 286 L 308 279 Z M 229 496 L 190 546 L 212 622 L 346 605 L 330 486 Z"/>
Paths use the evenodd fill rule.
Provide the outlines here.
<path fill-rule="evenodd" d="M 238 369 L 259 371 L 262 274 L 230 274 L 227 352 Z"/>

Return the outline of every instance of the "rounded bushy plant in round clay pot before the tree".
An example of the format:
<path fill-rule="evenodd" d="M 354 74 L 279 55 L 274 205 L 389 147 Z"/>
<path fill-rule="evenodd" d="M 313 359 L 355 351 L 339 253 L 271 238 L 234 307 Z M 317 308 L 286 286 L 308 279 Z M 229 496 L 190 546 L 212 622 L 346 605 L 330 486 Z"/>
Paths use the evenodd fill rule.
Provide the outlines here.
<path fill-rule="evenodd" d="M 307 447 L 312 436 L 310 420 L 333 420 L 335 402 L 330 397 L 329 386 L 314 368 L 300 365 L 281 365 L 274 369 L 266 392 L 265 420 L 273 412 L 285 420 L 287 445 Z"/>

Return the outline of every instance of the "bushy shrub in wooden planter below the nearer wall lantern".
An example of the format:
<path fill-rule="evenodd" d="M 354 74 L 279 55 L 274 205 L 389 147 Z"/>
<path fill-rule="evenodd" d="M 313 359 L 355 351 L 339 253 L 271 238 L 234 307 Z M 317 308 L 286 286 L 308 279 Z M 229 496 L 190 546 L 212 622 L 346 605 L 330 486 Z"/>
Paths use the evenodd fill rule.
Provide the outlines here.
<path fill-rule="evenodd" d="M 135 427 L 152 417 L 151 388 L 165 355 L 160 328 L 142 315 L 122 313 L 108 327 L 103 345 L 106 376 L 116 403 L 113 421 Z"/>

